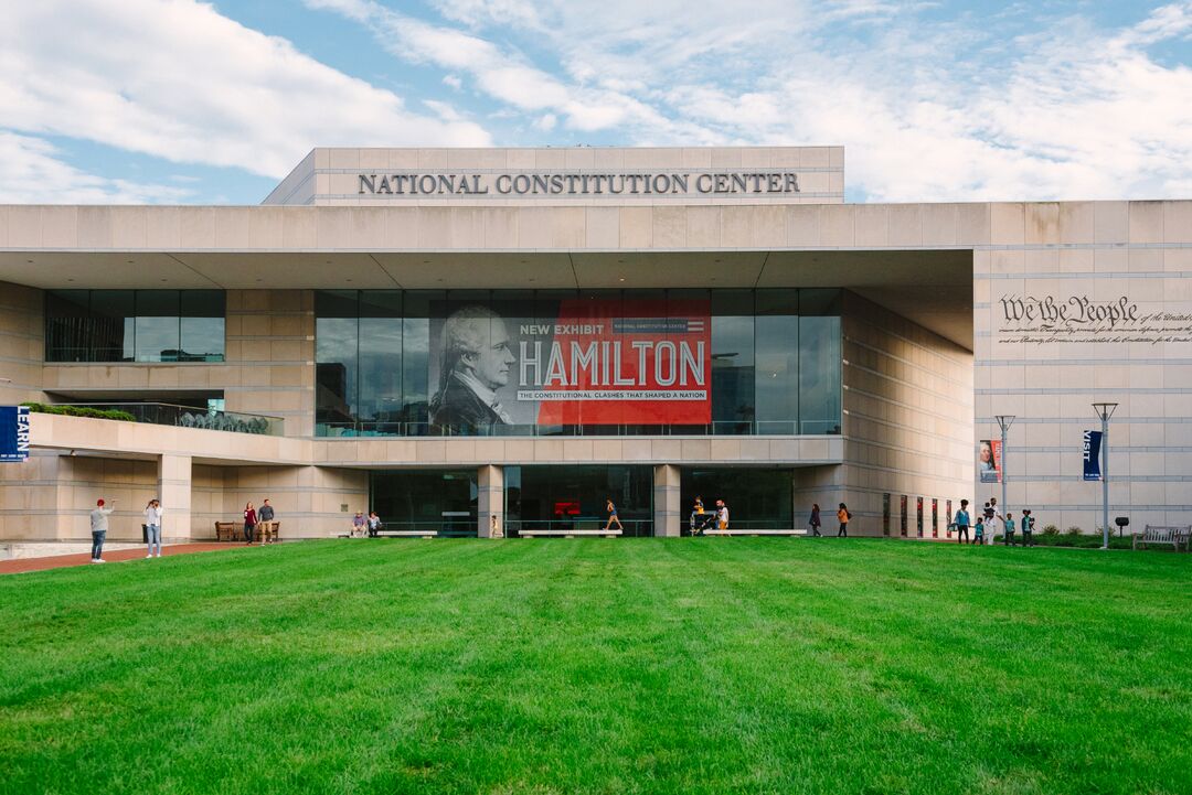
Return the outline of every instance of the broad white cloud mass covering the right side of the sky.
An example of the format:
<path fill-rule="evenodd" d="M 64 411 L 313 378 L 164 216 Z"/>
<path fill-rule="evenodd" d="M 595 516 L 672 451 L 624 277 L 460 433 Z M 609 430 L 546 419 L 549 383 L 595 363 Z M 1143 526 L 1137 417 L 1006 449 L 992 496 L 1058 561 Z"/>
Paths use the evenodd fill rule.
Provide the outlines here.
<path fill-rule="evenodd" d="M 883 0 L 435 5 L 485 54 L 464 67 L 482 90 L 538 129 L 550 114 L 621 143 L 842 143 L 848 183 L 882 201 L 1186 196 L 1192 183 L 1192 71 L 1148 51 L 1192 40 L 1186 0 L 1119 30 L 1028 6 L 927 19 L 936 4 Z M 374 30 L 408 26 L 370 7 Z M 519 25 L 561 69 L 493 44 Z"/>

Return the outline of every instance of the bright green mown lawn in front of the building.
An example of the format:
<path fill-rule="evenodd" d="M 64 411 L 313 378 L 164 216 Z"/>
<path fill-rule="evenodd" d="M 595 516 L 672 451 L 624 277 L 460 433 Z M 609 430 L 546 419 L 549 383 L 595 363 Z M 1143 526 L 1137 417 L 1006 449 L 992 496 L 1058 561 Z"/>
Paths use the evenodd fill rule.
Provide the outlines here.
<path fill-rule="evenodd" d="M 1192 793 L 1192 556 L 344 540 L 0 577 L 2 793 Z"/>

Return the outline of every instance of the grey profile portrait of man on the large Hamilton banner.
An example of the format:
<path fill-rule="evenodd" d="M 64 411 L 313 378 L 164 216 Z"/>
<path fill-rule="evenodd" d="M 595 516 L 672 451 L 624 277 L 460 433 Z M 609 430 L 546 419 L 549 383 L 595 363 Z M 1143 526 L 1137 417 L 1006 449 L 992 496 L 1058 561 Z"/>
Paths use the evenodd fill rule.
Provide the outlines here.
<path fill-rule="evenodd" d="M 505 321 L 484 306 L 467 306 L 443 323 L 437 392 L 430 399 L 430 424 L 485 428 L 508 425 L 499 390 L 509 384 L 517 361 Z"/>

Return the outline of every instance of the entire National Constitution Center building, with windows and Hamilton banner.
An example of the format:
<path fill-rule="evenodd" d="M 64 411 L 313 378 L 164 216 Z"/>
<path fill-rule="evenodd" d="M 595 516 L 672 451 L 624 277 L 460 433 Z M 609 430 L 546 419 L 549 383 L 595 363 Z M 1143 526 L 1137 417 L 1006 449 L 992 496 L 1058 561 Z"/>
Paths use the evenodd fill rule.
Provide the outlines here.
<path fill-rule="evenodd" d="M 0 542 L 99 496 L 113 540 L 154 496 L 172 539 L 265 497 L 283 538 L 679 536 L 697 495 L 945 538 L 1001 474 L 1093 532 L 1094 402 L 1111 514 L 1192 522 L 1192 201 L 845 204 L 844 155 L 316 149 L 260 206 L 0 206 L 0 403 L 123 412 L 35 411 Z"/>

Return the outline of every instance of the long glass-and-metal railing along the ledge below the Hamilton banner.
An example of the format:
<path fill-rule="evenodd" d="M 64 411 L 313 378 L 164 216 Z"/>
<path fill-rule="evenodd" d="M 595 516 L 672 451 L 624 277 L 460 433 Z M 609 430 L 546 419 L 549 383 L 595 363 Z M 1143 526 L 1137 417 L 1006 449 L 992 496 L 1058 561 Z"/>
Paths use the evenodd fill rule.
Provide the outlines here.
<path fill-rule="evenodd" d="M 839 436 L 839 420 L 741 420 L 706 425 L 433 425 L 430 422 L 317 422 L 315 436 L 335 437 L 633 437 Z"/>

